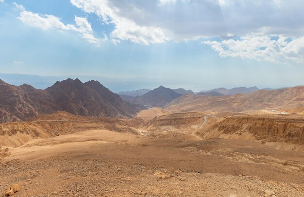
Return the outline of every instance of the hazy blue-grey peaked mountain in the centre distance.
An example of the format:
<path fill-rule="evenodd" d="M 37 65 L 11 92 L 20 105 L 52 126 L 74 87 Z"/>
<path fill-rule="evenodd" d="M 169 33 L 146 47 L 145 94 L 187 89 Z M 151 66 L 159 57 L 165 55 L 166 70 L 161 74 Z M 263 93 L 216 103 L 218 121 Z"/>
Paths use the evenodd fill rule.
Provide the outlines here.
<path fill-rule="evenodd" d="M 142 96 L 136 96 L 134 99 L 130 100 L 130 103 L 150 107 L 163 107 L 180 96 L 181 94 L 176 93 L 174 90 L 160 86 Z"/>

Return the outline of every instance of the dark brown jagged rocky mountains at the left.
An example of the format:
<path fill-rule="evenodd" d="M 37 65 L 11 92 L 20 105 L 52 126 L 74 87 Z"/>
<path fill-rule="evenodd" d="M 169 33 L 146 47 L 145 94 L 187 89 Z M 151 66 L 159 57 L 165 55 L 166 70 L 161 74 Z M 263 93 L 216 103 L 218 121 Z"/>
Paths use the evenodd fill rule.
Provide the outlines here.
<path fill-rule="evenodd" d="M 141 109 L 97 81 L 67 79 L 37 90 L 27 84 L 18 87 L 0 80 L 0 122 L 24 121 L 59 110 L 83 116 L 133 117 Z"/>

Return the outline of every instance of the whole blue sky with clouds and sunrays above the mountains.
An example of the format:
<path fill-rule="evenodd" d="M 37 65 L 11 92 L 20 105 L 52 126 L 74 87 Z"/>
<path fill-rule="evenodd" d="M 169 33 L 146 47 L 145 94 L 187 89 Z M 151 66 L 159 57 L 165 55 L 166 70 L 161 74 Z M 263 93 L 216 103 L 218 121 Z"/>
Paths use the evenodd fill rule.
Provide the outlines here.
<path fill-rule="evenodd" d="M 303 10 L 302 0 L 0 0 L 0 77 L 38 88 L 94 79 L 114 92 L 304 85 Z"/>

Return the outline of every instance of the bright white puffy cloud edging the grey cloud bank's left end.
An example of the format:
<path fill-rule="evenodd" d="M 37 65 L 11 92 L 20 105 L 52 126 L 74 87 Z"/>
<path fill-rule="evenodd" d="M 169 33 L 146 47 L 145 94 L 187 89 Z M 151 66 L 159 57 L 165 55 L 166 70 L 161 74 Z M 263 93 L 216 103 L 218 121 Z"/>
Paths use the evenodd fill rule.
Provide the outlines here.
<path fill-rule="evenodd" d="M 157 25 L 138 25 L 134 20 L 121 16 L 120 8 L 111 6 L 108 0 L 71 0 L 71 3 L 84 12 L 95 13 L 105 24 L 114 24 L 115 29 L 110 35 L 114 43 L 130 40 L 148 45 L 169 40 L 164 30 Z"/>

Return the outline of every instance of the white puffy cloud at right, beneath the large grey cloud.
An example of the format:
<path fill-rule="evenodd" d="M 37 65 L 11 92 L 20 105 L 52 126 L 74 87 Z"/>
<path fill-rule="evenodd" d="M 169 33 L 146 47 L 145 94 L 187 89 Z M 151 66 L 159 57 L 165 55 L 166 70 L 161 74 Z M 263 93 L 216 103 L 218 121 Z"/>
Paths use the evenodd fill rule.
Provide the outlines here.
<path fill-rule="evenodd" d="M 287 41 L 288 40 L 288 41 Z M 204 41 L 220 57 L 237 57 L 253 59 L 257 61 L 269 61 L 275 63 L 303 63 L 304 62 L 304 36 L 241 36 L 239 39 L 222 41 Z"/>

